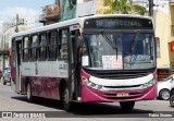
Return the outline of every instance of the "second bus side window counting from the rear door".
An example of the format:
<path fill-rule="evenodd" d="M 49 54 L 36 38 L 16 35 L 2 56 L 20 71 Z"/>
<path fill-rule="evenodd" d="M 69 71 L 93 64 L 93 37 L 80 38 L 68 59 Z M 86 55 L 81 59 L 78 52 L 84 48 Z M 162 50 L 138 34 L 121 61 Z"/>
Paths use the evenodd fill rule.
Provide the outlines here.
<path fill-rule="evenodd" d="M 37 43 L 38 43 L 38 35 L 34 35 L 32 36 L 32 41 L 30 41 L 30 49 L 32 49 L 32 53 L 30 53 L 30 60 L 37 60 Z"/>

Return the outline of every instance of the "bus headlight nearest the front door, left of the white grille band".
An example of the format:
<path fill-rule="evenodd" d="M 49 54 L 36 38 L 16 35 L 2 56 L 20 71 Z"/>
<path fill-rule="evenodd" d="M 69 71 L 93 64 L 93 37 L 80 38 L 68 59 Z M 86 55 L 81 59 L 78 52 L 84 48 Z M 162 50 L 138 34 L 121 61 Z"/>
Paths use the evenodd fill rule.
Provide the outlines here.
<path fill-rule="evenodd" d="M 95 89 L 101 89 L 103 86 L 102 85 L 98 85 L 95 84 L 92 82 L 90 82 L 87 77 L 83 76 L 83 83 L 86 84 L 87 86 L 95 88 Z"/>

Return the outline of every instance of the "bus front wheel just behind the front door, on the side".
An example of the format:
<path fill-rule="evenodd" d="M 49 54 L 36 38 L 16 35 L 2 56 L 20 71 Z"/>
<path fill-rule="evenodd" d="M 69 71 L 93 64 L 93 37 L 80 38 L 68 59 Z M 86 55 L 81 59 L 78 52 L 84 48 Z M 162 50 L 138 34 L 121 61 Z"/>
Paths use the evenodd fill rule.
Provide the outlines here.
<path fill-rule="evenodd" d="M 70 101 L 70 95 L 67 86 L 64 86 L 63 95 L 62 95 L 63 108 L 65 111 L 70 111 L 72 107 L 72 102 Z"/>

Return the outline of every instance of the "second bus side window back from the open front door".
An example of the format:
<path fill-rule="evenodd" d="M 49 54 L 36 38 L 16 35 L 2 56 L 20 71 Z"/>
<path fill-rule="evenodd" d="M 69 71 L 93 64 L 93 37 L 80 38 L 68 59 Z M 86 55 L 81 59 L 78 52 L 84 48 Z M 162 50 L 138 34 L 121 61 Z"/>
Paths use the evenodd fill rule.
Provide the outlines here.
<path fill-rule="evenodd" d="M 48 55 L 49 60 L 55 60 L 57 59 L 57 31 L 49 33 L 49 46 L 48 46 Z"/>

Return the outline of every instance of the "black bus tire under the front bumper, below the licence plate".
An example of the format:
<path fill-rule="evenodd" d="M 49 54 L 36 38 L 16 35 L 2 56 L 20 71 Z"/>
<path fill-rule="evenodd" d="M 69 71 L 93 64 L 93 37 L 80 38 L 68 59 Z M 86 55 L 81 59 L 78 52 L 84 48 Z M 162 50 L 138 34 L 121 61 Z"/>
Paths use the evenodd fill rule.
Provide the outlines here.
<path fill-rule="evenodd" d="M 135 101 L 121 101 L 120 105 L 123 110 L 132 110 L 135 106 Z"/>

